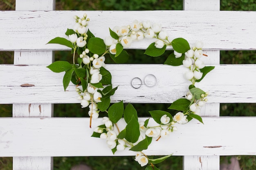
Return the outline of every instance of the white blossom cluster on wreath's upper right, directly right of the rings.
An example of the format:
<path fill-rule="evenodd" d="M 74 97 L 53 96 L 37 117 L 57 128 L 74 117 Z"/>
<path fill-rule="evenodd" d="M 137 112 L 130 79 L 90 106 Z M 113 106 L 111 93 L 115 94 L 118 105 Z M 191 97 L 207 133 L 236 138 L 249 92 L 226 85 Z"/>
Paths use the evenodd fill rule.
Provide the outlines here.
<path fill-rule="evenodd" d="M 205 55 L 202 51 L 202 42 L 196 42 L 195 46 L 188 50 L 185 53 L 185 60 L 182 61 L 183 66 L 188 68 L 188 71 L 184 73 L 184 77 L 187 80 L 190 80 L 192 84 L 195 84 L 195 81 L 202 78 L 203 73 L 200 71 L 201 68 L 204 68 L 204 63 L 200 59 Z M 180 57 L 180 53 L 174 52 L 175 57 Z M 205 55 L 207 56 L 207 55 Z"/>

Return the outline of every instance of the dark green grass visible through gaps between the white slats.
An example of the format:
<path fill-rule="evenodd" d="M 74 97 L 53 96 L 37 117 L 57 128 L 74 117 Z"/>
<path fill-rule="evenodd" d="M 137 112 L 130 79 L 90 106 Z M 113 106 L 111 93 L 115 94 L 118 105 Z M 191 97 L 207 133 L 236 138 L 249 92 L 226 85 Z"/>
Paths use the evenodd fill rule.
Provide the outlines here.
<path fill-rule="evenodd" d="M 0 10 L 15 10 L 15 0 L 1 0 Z M 182 10 L 182 0 L 56 0 L 56 10 Z M 220 10 L 256 11 L 254 0 L 220 0 Z M 142 50 L 128 50 L 128 63 L 162 64 L 167 56 L 145 56 Z M 70 52 L 55 52 L 55 60 L 72 60 Z M 221 51 L 221 64 L 256 64 L 255 51 Z M 107 63 L 111 61 L 108 60 Z M 13 52 L 0 52 L 0 64 L 13 64 Z M 145 110 L 166 110 L 169 104 L 134 104 L 140 116 Z M 11 117 L 12 105 L 0 105 L 0 117 Z M 221 104 L 221 116 L 256 116 L 256 104 Z M 80 104 L 54 104 L 54 117 L 88 116 Z M 239 136 L 237 137 L 239 139 Z M 88 146 L 90 147 L 90 146 Z M 256 156 L 236 156 L 242 170 L 256 169 Z M 221 157 L 221 161 L 230 157 Z M 54 170 L 70 170 L 79 163 L 86 163 L 93 170 L 144 170 L 134 157 L 54 157 Z M 170 157 L 158 168 L 182 170 L 182 157 Z M 0 170 L 11 170 L 12 158 L 0 158 Z"/>

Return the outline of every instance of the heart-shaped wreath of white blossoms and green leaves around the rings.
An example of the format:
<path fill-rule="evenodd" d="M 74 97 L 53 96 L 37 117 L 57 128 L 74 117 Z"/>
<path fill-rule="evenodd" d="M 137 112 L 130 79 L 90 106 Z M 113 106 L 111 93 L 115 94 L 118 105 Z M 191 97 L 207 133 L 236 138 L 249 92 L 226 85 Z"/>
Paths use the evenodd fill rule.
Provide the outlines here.
<path fill-rule="evenodd" d="M 82 18 L 74 16 L 76 24 L 73 29 L 67 29 L 66 38 L 54 38 L 49 43 L 61 44 L 72 49 L 73 64 L 67 61 L 56 61 L 49 66 L 53 72 L 65 71 L 63 86 L 66 90 L 70 81 L 76 85 L 78 99 L 81 100 L 82 108 L 89 107 L 90 127 L 92 119 L 99 117 L 99 112 L 108 113 L 108 117 L 103 117 L 103 124 L 94 129 L 92 137 L 99 137 L 107 141 L 107 146 L 112 150 L 123 151 L 126 148 L 135 151 L 135 161 L 141 166 L 146 166 L 146 170 L 158 170 L 154 165 L 164 161 L 171 155 L 150 159 L 142 150 L 146 150 L 152 139 L 158 141 L 169 133 L 177 130 L 178 124 L 186 124 L 195 118 L 202 122 L 198 115 L 200 107 L 207 102 L 207 92 L 195 87 L 195 82 L 200 82 L 203 77 L 214 67 L 205 66 L 200 59 L 207 56 L 202 52 L 202 42 L 195 42 L 191 48 L 189 43 L 183 38 L 176 38 L 171 42 L 168 40 L 168 33 L 162 30 L 160 24 L 151 24 L 150 21 L 139 22 L 135 20 L 128 26 L 115 26 L 109 29 L 110 36 L 105 40 L 96 38 L 88 29 L 88 22 L 85 13 Z M 117 87 L 113 88 L 111 83 L 111 73 L 104 68 L 105 55 L 108 54 L 115 62 L 126 62 L 129 55 L 124 47 L 129 47 L 132 41 L 141 41 L 144 38 L 152 39 L 154 42 L 148 46 L 146 55 L 157 57 L 162 55 L 166 46 L 172 46 L 174 52 L 168 56 L 164 64 L 187 68 L 184 78 L 191 81 L 188 92 L 180 99 L 171 104 L 168 109 L 176 110 L 174 117 L 162 110 L 149 111 L 153 119 L 139 122 L 138 115 L 132 104 L 124 108 L 123 101 L 110 106 L 110 96 L 114 95 Z M 75 63 L 75 53 L 78 53 L 77 64 Z M 117 122 L 124 117 L 126 127 L 119 130 Z M 155 121 L 154 126 L 149 126 L 148 122 Z M 155 126 L 157 124 L 157 126 Z"/>

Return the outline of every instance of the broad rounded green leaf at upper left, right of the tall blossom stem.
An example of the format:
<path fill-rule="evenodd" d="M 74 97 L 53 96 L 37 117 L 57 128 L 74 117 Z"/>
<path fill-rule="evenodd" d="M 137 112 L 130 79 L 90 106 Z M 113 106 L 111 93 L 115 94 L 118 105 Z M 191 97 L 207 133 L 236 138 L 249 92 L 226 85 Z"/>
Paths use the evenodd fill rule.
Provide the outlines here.
<path fill-rule="evenodd" d="M 106 51 L 106 45 L 101 38 L 90 38 L 87 48 L 94 54 L 103 54 Z"/>

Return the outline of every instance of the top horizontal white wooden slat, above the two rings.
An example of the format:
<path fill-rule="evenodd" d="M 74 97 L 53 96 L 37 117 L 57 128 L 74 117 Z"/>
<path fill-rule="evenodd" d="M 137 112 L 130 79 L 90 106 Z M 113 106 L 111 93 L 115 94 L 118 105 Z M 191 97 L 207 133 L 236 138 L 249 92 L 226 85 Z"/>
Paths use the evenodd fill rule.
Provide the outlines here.
<path fill-rule="evenodd" d="M 137 19 L 162 24 L 170 39 L 182 37 L 190 44 L 201 40 L 204 49 L 256 49 L 255 11 L 0 11 L 0 50 L 69 50 L 46 43 L 65 37 L 74 25 L 73 15 L 85 12 L 90 30 L 100 38 L 109 35 L 109 27 Z M 151 42 L 136 42 L 130 48 L 145 49 Z"/>

